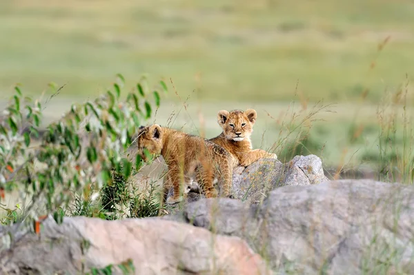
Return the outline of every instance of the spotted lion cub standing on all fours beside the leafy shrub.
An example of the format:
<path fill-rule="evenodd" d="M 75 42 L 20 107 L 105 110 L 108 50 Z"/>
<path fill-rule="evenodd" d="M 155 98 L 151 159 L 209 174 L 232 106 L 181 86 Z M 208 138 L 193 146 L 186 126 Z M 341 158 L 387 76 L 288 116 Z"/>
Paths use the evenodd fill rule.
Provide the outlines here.
<path fill-rule="evenodd" d="M 157 124 L 139 128 L 138 154 L 144 161 L 144 148 L 150 154 L 161 154 L 168 166 L 168 173 L 164 179 L 164 197 L 168 194 L 171 185 L 174 195 L 167 199 L 168 204 L 182 201 L 182 183 L 190 184 L 195 176 L 207 198 L 217 196 L 213 181 L 221 182 L 221 196 L 230 196 L 230 187 L 233 179 L 233 157 L 223 147 L 202 139 L 180 132 L 178 130 L 161 127 Z M 185 180 L 184 180 L 185 179 Z M 164 201 L 164 198 L 163 198 Z"/>

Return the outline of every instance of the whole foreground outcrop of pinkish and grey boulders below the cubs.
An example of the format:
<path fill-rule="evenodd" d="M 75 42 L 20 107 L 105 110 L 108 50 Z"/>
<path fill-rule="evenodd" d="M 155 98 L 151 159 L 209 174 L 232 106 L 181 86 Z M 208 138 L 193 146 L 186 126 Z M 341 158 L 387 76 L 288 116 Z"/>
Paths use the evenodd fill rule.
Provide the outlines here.
<path fill-rule="evenodd" d="M 0 227 L 1 274 L 79 274 L 110 264 L 113 274 L 121 274 L 117 265 L 128 259 L 135 274 L 414 270 L 411 185 L 372 180 L 315 185 L 310 179 L 308 185 L 276 188 L 258 204 L 201 198 L 181 207 L 173 215 L 124 221 L 75 217 L 57 225 L 48 218 L 40 236 L 17 225 Z"/>

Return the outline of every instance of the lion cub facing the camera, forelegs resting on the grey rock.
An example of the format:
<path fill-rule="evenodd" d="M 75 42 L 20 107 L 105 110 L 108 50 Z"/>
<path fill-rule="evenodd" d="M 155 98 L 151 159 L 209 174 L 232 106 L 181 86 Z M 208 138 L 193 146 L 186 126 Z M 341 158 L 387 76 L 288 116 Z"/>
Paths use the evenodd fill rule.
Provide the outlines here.
<path fill-rule="evenodd" d="M 223 129 L 223 132 L 210 141 L 224 147 L 237 160 L 235 166 L 248 166 L 255 161 L 268 158 L 277 159 L 276 154 L 271 154 L 262 149 L 252 150 L 250 136 L 253 132 L 253 125 L 257 119 L 257 112 L 254 109 L 246 111 L 220 110 L 217 113 L 217 122 Z"/>

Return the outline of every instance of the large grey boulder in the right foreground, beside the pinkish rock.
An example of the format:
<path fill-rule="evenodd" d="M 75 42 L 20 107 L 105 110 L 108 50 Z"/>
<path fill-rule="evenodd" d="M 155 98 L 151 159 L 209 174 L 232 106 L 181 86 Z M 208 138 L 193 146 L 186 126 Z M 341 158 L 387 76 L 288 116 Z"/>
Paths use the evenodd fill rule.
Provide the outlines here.
<path fill-rule="evenodd" d="M 260 205 L 200 199 L 164 219 L 244 238 L 287 274 L 411 274 L 414 187 L 372 180 L 284 186 Z"/>

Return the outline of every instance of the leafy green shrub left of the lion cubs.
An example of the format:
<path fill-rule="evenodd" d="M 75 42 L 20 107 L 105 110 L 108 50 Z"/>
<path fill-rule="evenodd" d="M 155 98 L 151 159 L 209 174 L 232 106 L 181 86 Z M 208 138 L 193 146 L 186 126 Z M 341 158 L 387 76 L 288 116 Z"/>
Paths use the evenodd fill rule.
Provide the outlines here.
<path fill-rule="evenodd" d="M 146 79 L 141 79 L 121 101 L 124 84 L 124 77 L 117 74 L 112 91 L 95 101 L 73 104 L 62 119 L 48 125 L 43 136 L 39 135 L 41 102 L 23 97 L 15 87 L 0 121 L 0 200 L 10 192 L 31 200 L 14 210 L 4 207 L 8 214 L 1 223 L 16 222 L 19 209 L 25 221 L 52 214 L 59 223 L 65 212 L 108 218 L 101 212 L 106 208 L 91 203 L 91 196 L 101 188 L 108 196 L 106 190 L 114 183 L 115 187 L 124 184 L 117 183 L 117 175 L 128 179 L 132 168 L 139 170 L 140 157 L 132 167 L 123 152 L 141 122 L 150 118 L 152 105 L 159 107 L 160 92 L 167 92 L 164 81 L 151 92 Z M 38 146 L 31 147 L 33 136 L 40 138 Z"/>

